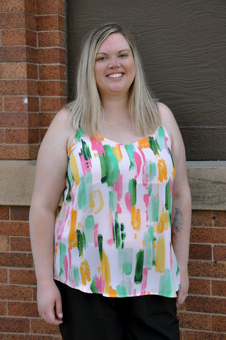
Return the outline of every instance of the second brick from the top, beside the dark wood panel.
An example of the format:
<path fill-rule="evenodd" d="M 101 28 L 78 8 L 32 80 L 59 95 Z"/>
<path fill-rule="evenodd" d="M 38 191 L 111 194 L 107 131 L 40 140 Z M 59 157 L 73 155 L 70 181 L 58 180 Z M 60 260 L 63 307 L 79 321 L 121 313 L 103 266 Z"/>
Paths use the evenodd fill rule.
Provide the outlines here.
<path fill-rule="evenodd" d="M 38 31 L 55 31 L 64 32 L 64 17 L 62 16 L 37 16 Z"/>

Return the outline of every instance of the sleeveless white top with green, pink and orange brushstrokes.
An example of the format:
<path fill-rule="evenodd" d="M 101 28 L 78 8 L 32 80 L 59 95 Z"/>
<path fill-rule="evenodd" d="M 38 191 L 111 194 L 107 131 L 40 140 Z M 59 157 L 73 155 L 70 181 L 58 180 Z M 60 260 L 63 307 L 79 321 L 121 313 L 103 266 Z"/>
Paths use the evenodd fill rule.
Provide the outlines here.
<path fill-rule="evenodd" d="M 123 145 L 79 128 L 55 224 L 54 278 L 109 297 L 177 296 L 171 243 L 174 160 L 160 127 Z"/>

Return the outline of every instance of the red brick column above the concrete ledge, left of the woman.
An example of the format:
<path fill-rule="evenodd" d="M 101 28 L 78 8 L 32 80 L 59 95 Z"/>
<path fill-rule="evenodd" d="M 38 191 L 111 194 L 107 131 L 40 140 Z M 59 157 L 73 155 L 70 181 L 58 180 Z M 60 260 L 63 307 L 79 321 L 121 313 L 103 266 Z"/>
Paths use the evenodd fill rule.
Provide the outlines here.
<path fill-rule="evenodd" d="M 64 1 L 1 1 L 0 11 L 0 158 L 35 159 L 66 102 Z"/>

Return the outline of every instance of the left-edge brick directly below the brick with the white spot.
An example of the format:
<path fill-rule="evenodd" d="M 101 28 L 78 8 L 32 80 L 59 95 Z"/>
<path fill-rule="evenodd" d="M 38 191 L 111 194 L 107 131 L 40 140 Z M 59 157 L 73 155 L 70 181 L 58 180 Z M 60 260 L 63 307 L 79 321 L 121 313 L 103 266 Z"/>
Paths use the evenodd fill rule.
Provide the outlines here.
<path fill-rule="evenodd" d="M 0 112 L 0 126 L 6 128 L 25 128 L 28 126 L 28 114 L 22 112 Z"/>

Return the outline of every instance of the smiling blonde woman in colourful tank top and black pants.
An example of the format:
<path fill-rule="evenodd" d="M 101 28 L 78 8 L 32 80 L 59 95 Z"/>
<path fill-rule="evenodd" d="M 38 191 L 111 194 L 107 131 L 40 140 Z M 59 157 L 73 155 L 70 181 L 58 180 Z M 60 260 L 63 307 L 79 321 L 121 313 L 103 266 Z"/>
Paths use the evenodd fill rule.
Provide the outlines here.
<path fill-rule="evenodd" d="M 55 116 L 37 159 L 40 315 L 64 339 L 179 339 L 190 215 L 174 116 L 150 96 L 131 37 L 100 25 L 83 47 L 76 100 Z"/>

